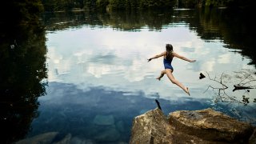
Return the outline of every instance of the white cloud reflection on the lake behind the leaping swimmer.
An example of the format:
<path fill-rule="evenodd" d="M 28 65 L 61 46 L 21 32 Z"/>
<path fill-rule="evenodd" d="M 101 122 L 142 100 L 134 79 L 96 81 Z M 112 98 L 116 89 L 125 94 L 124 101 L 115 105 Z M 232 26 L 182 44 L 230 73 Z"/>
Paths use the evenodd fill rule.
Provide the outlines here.
<path fill-rule="evenodd" d="M 189 63 L 174 59 L 174 77 L 190 87 L 192 96 L 205 97 L 206 84 L 198 81 L 202 71 L 222 72 L 252 68 L 248 60 L 223 48 L 222 42 L 204 42 L 188 27 L 169 27 L 161 32 L 114 31 L 111 28 L 64 30 L 47 34 L 49 82 L 74 83 L 81 89 L 104 86 L 114 90 L 143 91 L 162 98 L 178 98 L 186 94 L 158 77 L 162 58 L 146 59 L 165 50 L 166 43 L 187 58 Z M 194 94 L 193 94 L 194 93 Z"/>

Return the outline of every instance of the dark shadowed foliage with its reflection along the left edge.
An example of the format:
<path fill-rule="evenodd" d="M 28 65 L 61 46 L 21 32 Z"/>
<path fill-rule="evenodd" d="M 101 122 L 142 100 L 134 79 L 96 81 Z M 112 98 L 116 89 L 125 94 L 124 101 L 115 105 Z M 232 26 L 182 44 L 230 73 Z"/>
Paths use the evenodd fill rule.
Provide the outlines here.
<path fill-rule="evenodd" d="M 6 14 L 6 11 L 8 12 Z M 10 0 L 0 6 L 0 143 L 24 138 L 45 94 L 46 34 L 40 0 Z"/>

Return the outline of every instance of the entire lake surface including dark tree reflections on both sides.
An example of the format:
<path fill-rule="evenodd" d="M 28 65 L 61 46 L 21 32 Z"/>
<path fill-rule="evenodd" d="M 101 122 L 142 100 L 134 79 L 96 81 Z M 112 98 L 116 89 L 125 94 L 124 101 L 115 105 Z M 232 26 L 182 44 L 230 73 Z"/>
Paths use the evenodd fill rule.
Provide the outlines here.
<path fill-rule="evenodd" d="M 133 118 L 156 108 L 154 99 L 165 114 L 210 107 L 255 124 L 256 91 L 232 91 L 234 84 L 256 79 L 250 19 L 226 9 L 82 11 L 43 14 L 39 26 L 5 26 L 3 142 L 58 132 L 54 142 L 70 136 L 70 143 L 128 143 Z M 146 61 L 166 43 L 197 60 L 173 62 L 174 77 L 190 87 L 191 96 L 166 76 L 155 79 L 162 58 Z M 226 95 L 207 90 L 220 81 L 199 79 L 200 73 L 223 76 Z M 249 98 L 246 106 L 242 95 Z"/>

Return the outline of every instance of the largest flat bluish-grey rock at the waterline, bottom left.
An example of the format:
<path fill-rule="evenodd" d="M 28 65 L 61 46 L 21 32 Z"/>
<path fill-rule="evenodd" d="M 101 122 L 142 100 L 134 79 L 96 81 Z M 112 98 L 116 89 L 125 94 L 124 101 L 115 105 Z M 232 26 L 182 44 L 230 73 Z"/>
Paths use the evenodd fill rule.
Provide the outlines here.
<path fill-rule="evenodd" d="M 39 134 L 32 138 L 26 138 L 21 141 L 16 142 L 15 144 L 50 144 L 52 143 L 53 139 L 56 137 L 58 132 L 50 132 L 45 134 Z"/>

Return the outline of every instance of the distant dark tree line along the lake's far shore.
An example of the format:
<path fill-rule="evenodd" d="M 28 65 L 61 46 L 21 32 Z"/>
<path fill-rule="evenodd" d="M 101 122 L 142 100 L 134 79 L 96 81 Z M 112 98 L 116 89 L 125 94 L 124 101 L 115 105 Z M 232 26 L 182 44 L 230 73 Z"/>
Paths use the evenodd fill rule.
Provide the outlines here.
<path fill-rule="evenodd" d="M 42 0 L 42 4 L 46 11 L 255 6 L 253 0 Z"/>

